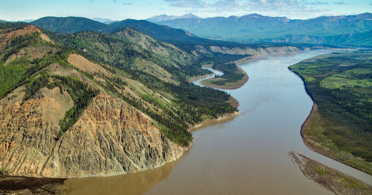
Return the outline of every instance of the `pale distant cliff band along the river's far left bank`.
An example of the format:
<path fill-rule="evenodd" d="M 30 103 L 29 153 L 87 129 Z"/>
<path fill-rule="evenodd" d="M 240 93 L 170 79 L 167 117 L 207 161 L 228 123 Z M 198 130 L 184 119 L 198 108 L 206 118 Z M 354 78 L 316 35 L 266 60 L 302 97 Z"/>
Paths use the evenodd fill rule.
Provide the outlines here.
<path fill-rule="evenodd" d="M 300 52 L 301 50 L 297 47 L 284 46 L 284 47 L 266 47 L 266 48 L 227 48 L 211 46 L 209 47 L 214 52 L 220 52 L 222 54 L 238 54 L 245 55 L 249 54 L 252 56 L 276 54 L 276 53 L 288 53 L 288 52 Z"/>

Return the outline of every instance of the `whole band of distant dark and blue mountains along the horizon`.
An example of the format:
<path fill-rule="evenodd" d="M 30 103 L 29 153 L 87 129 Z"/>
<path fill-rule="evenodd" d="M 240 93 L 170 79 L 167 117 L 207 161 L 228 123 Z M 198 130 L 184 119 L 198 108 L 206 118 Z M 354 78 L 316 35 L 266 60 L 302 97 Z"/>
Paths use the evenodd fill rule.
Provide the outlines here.
<path fill-rule="evenodd" d="M 106 25 L 106 22 L 112 22 Z M 270 17 L 259 14 L 210 18 L 178 18 L 162 22 L 126 19 L 101 23 L 84 17 L 43 17 L 31 22 L 52 32 L 95 31 L 111 33 L 131 27 L 177 47 L 195 44 L 220 45 L 218 41 L 276 42 L 288 44 L 334 44 L 369 47 L 372 14 L 321 16 L 308 20 Z M 358 34 L 365 33 L 365 34 Z M 223 43 L 226 45 L 227 43 Z M 235 43 L 236 45 L 236 43 Z"/>

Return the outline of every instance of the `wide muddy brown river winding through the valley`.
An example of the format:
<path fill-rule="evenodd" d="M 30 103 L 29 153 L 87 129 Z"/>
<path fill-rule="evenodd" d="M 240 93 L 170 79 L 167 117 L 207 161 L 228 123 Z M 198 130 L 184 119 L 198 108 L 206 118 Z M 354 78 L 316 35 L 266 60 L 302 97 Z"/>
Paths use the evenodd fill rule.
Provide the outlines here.
<path fill-rule="evenodd" d="M 67 179 L 70 194 L 332 194 L 302 175 L 289 150 L 372 184 L 372 176 L 308 149 L 299 133 L 312 101 L 287 67 L 329 52 L 241 61 L 248 82 L 226 90 L 240 102 L 239 115 L 193 131 L 194 145 L 175 162 L 120 176 Z"/>

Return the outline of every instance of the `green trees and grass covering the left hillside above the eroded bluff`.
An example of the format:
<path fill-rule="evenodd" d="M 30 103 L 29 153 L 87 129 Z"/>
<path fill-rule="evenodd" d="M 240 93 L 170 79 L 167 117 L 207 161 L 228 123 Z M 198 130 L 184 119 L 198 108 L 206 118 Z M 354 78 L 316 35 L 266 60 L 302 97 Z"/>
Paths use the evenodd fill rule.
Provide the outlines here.
<path fill-rule="evenodd" d="M 7 28 L 20 29 L 25 24 L 9 25 L 3 25 L 5 33 L 11 32 Z M 151 45 L 147 49 L 137 42 L 131 42 L 132 39 L 126 37 L 127 35 L 83 31 L 62 36 L 44 30 L 43 32 L 52 37 L 56 44 L 42 41 L 40 33 L 36 32 L 28 36 L 17 36 L 0 48 L 0 95 L 5 97 L 22 85 L 26 86 L 24 100 L 35 95 L 42 87 L 59 87 L 61 93 L 68 92 L 74 106 L 60 121 L 59 136 L 77 121 L 92 98 L 99 93 L 98 86 L 105 90 L 105 93 L 116 95 L 150 116 L 154 125 L 171 141 L 181 146 L 188 146 L 192 141 L 192 134 L 188 132 L 192 125 L 206 118 L 217 118 L 236 111 L 227 102 L 230 99 L 227 93 L 187 82 L 191 77 L 209 73 L 203 70 L 201 65 L 206 63 L 206 60 L 213 60 L 212 54 L 198 58 L 172 45 L 156 40 L 150 42 L 149 37 L 144 38 L 145 42 L 148 41 L 146 44 Z M 134 31 L 134 34 L 138 33 Z M 54 49 L 45 50 L 41 58 L 23 55 L 28 49 L 41 45 Z M 70 54 L 86 57 L 105 68 L 109 74 L 102 71 L 80 71 L 67 63 Z M 163 68 L 170 75 L 169 79 L 161 80 L 157 74 L 135 66 L 136 63 L 142 62 Z M 86 79 L 50 74 L 46 68 L 49 64 L 73 68 L 94 84 Z"/>

